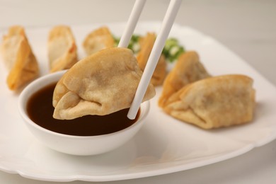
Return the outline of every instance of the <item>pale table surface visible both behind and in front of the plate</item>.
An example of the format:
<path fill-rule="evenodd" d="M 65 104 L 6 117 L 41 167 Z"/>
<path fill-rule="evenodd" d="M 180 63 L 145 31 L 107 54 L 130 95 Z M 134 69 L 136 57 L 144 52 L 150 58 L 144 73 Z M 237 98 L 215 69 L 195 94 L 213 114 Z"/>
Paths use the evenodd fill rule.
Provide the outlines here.
<path fill-rule="evenodd" d="M 140 21 L 161 21 L 168 2 L 146 1 Z M 122 22 L 127 21 L 133 4 L 133 0 L 0 0 L 0 30 L 14 24 L 31 28 L 60 23 Z M 183 0 L 176 23 L 189 25 L 219 40 L 276 85 L 275 20 L 276 1 L 273 0 Z M 54 182 L 30 180 L 0 171 L 0 183 Z M 209 166 L 106 183 L 276 183 L 276 140 Z"/>

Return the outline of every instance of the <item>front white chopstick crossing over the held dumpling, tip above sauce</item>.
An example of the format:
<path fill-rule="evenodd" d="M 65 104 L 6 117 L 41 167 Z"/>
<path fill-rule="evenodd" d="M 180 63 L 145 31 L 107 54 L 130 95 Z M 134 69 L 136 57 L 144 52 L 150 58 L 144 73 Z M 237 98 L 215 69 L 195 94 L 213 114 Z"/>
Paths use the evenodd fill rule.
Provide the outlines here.
<path fill-rule="evenodd" d="M 133 98 L 132 105 L 130 106 L 130 110 L 127 114 L 127 117 L 130 118 L 130 120 L 134 120 L 137 115 L 139 106 L 142 103 L 144 94 L 146 93 L 146 88 L 149 86 L 151 76 L 154 74 L 154 69 L 156 68 L 157 62 L 159 61 L 159 57 L 165 45 L 166 39 L 168 38 L 168 34 L 171 31 L 171 27 L 173 26 L 173 22 L 176 19 L 180 4 L 181 0 L 171 0 L 170 4 L 168 5 L 166 15 L 161 25 L 161 30 L 159 31 L 156 41 L 154 42 L 154 47 L 151 50 L 149 60 L 146 63 L 144 73 L 142 74 L 142 78 Z"/>

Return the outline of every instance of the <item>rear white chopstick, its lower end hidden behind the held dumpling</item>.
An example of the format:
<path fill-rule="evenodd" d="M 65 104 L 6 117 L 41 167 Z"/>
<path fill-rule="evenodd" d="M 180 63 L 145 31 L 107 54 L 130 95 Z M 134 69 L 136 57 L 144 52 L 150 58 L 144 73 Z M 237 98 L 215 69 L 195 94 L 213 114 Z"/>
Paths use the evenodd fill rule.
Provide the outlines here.
<path fill-rule="evenodd" d="M 139 16 L 141 15 L 142 9 L 144 8 L 145 2 L 146 0 L 135 1 L 135 4 L 132 8 L 132 12 L 130 13 L 130 18 L 127 21 L 127 27 L 125 28 L 124 33 L 122 33 L 122 37 L 120 39 L 118 47 L 128 46 L 130 38 L 132 37 L 132 33 L 134 32 L 134 29 L 137 25 Z"/>

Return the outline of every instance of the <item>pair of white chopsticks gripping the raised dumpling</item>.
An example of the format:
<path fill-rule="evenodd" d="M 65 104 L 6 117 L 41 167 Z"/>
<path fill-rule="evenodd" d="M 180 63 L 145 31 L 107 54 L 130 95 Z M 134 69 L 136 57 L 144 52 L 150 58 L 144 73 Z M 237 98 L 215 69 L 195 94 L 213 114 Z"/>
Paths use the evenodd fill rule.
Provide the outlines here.
<path fill-rule="evenodd" d="M 122 34 L 122 38 L 120 39 L 118 47 L 128 46 L 132 33 L 134 32 L 134 28 L 136 27 L 137 21 L 139 19 L 139 16 L 142 12 L 142 9 L 144 8 L 145 1 L 146 0 L 135 1 L 135 4 L 132 8 L 132 12 L 130 13 L 130 18 L 127 21 L 127 27 L 125 28 L 125 31 Z M 151 50 L 149 60 L 146 63 L 144 73 L 142 74 L 142 78 L 139 82 L 137 91 L 134 95 L 132 105 L 130 106 L 130 110 L 127 114 L 127 117 L 130 118 L 130 120 L 134 120 L 134 118 L 137 115 L 139 106 L 142 103 L 144 94 L 146 93 L 146 88 L 149 86 L 151 76 L 152 74 L 154 74 L 154 69 L 156 68 L 157 62 L 159 61 L 159 57 L 168 38 L 168 34 L 171 31 L 171 27 L 173 26 L 173 22 L 176 19 L 176 15 L 178 13 L 180 4 L 181 0 L 171 0 L 170 4 L 168 5 L 168 9 L 166 11 L 163 23 L 161 25 L 161 30 L 159 30 L 159 34 L 156 37 L 154 47 Z"/>

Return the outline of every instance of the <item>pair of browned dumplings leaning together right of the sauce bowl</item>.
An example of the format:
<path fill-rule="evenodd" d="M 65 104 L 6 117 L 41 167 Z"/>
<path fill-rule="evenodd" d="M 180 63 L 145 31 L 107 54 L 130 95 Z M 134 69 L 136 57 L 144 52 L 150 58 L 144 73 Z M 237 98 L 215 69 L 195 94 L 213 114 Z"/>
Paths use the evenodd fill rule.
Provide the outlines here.
<path fill-rule="evenodd" d="M 253 79 L 238 74 L 210 76 L 198 55 L 187 52 L 164 81 L 159 106 L 203 129 L 240 125 L 253 119 Z"/>

